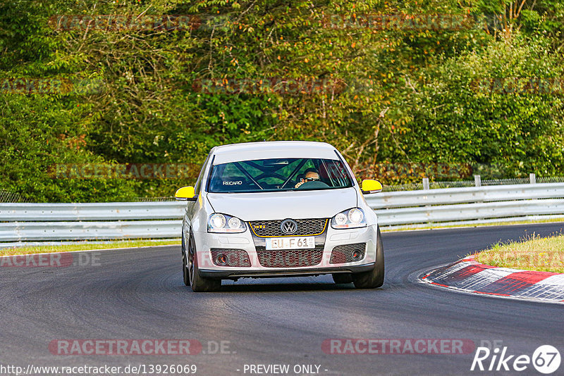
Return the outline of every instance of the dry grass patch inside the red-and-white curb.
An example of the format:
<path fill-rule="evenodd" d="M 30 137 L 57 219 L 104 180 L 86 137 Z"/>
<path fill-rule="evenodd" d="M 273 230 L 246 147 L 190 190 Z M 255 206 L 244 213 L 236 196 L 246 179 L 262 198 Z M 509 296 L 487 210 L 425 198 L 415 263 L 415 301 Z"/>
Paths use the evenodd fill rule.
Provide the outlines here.
<path fill-rule="evenodd" d="M 520 242 L 499 243 L 478 253 L 476 261 L 502 268 L 564 273 L 564 234 L 532 234 Z"/>

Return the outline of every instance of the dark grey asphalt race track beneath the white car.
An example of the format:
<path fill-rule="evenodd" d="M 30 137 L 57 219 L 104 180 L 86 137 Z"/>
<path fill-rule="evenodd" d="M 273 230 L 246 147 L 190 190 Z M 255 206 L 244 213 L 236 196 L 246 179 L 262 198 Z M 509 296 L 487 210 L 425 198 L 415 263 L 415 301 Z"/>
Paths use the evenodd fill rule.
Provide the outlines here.
<path fill-rule="evenodd" d="M 288 364 L 289 375 L 295 375 L 294 365 L 320 365 L 319 375 L 508 374 L 471 372 L 474 351 L 350 355 L 325 353 L 321 344 L 345 338 L 471 339 L 476 346 L 498 341 L 515 356 L 532 356 L 550 344 L 564 356 L 563 304 L 462 294 L 417 282 L 422 272 L 499 240 L 563 227 L 384 233 L 386 282 L 375 290 L 321 276 L 223 282 L 223 292 L 196 294 L 182 282 L 180 246 L 99 251 L 99 260 L 67 268 L 0 268 L 0 363 L 195 364 L 197 375 L 251 375 L 245 364 Z M 57 339 L 196 339 L 203 349 L 188 356 L 60 356 L 49 351 Z M 220 341 L 227 341 L 223 351 L 217 351 Z M 540 375 L 532 365 L 518 373 Z"/>

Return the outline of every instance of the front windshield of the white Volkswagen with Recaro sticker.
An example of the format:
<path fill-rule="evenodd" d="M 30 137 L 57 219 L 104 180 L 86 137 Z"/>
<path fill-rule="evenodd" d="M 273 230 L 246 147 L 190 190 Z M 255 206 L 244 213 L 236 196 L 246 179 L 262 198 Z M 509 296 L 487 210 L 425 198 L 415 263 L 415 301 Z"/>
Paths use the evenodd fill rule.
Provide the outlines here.
<path fill-rule="evenodd" d="M 207 192 L 277 192 L 353 187 L 341 161 L 276 158 L 214 165 Z"/>

